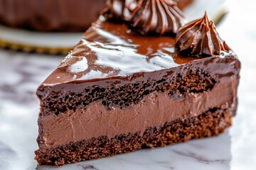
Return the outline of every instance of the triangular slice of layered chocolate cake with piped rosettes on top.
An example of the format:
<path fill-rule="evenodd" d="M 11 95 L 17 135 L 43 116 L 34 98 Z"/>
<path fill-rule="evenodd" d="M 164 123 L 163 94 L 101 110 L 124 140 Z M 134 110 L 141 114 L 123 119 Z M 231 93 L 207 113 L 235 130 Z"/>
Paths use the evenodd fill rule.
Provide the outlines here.
<path fill-rule="evenodd" d="M 231 125 L 240 61 L 206 14 L 181 27 L 176 5 L 143 0 L 132 16 L 110 5 L 85 32 L 36 92 L 38 164 L 174 145 Z"/>

